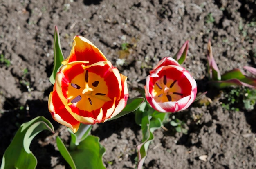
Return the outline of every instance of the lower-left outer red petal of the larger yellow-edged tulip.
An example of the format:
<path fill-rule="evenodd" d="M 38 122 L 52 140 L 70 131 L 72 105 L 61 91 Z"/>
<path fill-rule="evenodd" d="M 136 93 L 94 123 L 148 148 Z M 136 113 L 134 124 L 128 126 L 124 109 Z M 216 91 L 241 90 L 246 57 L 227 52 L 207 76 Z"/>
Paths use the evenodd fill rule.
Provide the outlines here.
<path fill-rule="evenodd" d="M 58 97 L 55 89 L 49 95 L 48 106 L 49 112 L 51 112 L 52 118 L 55 121 L 69 127 L 74 133 L 77 132 L 80 122 L 74 119 L 74 117 L 65 109 L 65 106 Z"/>

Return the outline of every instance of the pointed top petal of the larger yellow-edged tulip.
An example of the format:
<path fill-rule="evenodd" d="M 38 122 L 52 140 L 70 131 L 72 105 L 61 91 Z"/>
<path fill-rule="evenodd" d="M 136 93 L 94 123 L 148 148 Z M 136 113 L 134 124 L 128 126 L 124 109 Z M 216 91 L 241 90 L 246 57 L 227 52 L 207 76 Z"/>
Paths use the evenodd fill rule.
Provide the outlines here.
<path fill-rule="evenodd" d="M 68 64 L 73 61 L 88 61 L 88 64 L 94 64 L 98 61 L 107 61 L 101 50 L 85 37 L 75 36 L 69 57 L 62 64 Z"/>

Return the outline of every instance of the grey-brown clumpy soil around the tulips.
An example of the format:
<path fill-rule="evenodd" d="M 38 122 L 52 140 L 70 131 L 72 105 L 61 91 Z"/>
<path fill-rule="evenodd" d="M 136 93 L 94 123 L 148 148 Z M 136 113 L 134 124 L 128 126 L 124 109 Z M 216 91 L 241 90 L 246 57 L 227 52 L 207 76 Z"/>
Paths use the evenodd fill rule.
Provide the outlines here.
<path fill-rule="evenodd" d="M 256 66 L 255 0 L 0 0 L 0 14 L 0 159 L 22 123 L 45 116 L 56 132 L 34 138 L 37 168 L 70 168 L 56 148 L 56 136 L 68 143 L 70 135 L 47 108 L 58 26 L 65 57 L 74 35 L 88 38 L 128 76 L 130 97 L 138 95 L 133 88 L 144 86 L 161 58 L 173 56 L 189 40 L 183 66 L 196 79 L 198 92 L 208 91 L 209 104 L 194 103 L 171 114 L 186 122 L 188 133 L 173 132 L 169 123 L 168 131 L 155 131 L 144 168 L 256 168 L 256 110 L 245 110 L 242 100 L 239 111 L 222 106 L 227 91 L 209 86 L 206 59 L 211 39 L 221 72 Z M 107 169 L 136 167 L 142 135 L 134 118 L 129 114 L 93 127 L 106 148 Z"/>

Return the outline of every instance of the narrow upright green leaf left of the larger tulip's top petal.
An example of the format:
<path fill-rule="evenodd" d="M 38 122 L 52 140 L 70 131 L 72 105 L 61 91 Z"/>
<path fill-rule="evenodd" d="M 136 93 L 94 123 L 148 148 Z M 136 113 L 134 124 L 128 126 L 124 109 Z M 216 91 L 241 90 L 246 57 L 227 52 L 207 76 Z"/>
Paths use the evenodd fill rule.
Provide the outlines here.
<path fill-rule="evenodd" d="M 58 33 L 57 26 L 55 26 L 55 31 L 54 31 L 53 52 L 54 52 L 54 67 L 52 70 L 52 75 L 50 76 L 50 82 L 52 84 L 55 83 L 56 73 L 58 72 L 59 68 L 62 65 L 61 62 L 64 60 L 63 53 L 61 50 L 60 35 Z"/>

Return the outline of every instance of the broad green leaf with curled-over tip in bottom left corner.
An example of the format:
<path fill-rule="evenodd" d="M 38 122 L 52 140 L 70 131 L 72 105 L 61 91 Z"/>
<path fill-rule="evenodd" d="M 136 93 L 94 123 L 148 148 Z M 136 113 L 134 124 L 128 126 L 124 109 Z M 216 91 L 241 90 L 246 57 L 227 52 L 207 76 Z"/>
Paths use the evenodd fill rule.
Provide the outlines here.
<path fill-rule="evenodd" d="M 37 160 L 29 146 L 33 138 L 45 129 L 54 133 L 52 123 L 43 116 L 23 123 L 5 150 L 0 169 L 35 169 Z"/>

